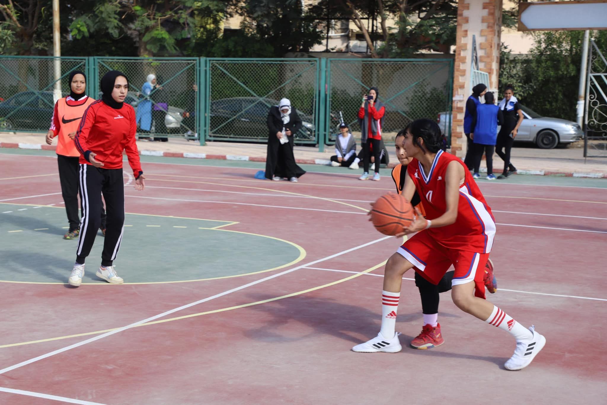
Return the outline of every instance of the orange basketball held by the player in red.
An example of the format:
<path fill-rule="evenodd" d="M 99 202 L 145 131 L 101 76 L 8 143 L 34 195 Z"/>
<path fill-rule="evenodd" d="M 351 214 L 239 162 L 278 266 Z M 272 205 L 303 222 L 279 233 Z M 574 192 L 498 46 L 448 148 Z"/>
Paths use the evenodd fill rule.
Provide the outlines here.
<path fill-rule="evenodd" d="M 384 235 L 396 235 L 413 222 L 413 206 L 400 194 L 388 192 L 373 204 L 371 222 Z"/>

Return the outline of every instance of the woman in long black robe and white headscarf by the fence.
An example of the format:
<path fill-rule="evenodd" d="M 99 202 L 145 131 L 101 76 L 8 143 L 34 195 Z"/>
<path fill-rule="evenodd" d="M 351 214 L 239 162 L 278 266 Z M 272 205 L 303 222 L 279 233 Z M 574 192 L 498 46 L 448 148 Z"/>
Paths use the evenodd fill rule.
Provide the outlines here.
<path fill-rule="evenodd" d="M 297 179 L 305 174 L 304 169 L 295 163 L 293 154 L 293 138 L 300 128 L 302 120 L 295 109 L 291 108 L 288 98 L 283 98 L 277 106 L 270 107 L 266 179 L 288 179 L 290 182 L 297 182 Z"/>

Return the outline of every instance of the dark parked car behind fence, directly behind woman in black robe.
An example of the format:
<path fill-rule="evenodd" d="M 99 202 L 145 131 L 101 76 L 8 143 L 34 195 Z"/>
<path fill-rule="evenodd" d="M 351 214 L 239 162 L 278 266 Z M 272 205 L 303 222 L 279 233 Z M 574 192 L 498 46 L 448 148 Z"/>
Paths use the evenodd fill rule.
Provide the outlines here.
<path fill-rule="evenodd" d="M 270 106 L 276 106 L 278 100 L 257 97 L 222 98 L 211 101 L 211 131 L 222 135 L 254 134 L 265 138 L 268 133 L 267 118 Z M 314 140 L 314 119 L 297 110 L 302 120 L 302 129 L 296 134 L 297 140 Z M 236 117 L 236 118 L 235 118 Z"/>

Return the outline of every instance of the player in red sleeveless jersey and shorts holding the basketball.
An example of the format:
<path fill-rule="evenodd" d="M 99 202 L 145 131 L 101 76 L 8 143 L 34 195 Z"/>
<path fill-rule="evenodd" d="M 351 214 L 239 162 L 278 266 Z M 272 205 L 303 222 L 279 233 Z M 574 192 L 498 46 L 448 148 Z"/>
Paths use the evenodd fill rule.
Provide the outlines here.
<path fill-rule="evenodd" d="M 483 194 L 464 162 L 443 152 L 438 125 L 415 120 L 406 129 L 402 143 L 407 157 L 407 177 L 402 196 L 410 201 L 417 191 L 426 217 L 416 209 L 415 220 L 397 236 L 413 234 L 388 259 L 382 291 L 381 330 L 376 338 L 352 348 L 354 352 L 399 352 L 395 332 L 396 311 L 403 274 L 410 268 L 438 284 L 453 265 L 451 296 L 459 309 L 509 332 L 517 340 L 508 370 L 528 366 L 546 344 L 546 338 L 527 329 L 485 299 L 484 268 L 495 236 L 495 220 Z"/>

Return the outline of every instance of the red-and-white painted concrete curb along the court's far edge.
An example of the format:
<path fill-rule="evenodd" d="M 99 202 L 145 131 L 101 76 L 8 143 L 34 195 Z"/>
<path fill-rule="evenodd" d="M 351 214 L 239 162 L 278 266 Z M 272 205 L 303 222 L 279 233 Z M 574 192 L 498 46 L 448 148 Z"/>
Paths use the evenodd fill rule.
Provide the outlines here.
<path fill-rule="evenodd" d="M 38 149 L 44 151 L 54 151 L 55 145 L 42 145 L 33 143 L 8 143 L 0 142 L 0 148 L 12 149 Z M 245 155 L 213 155 L 206 153 L 191 153 L 191 152 L 163 152 L 163 151 L 139 151 L 143 156 L 159 156 L 159 157 L 185 157 L 194 159 L 217 159 L 217 160 L 239 160 L 243 162 L 265 162 L 265 157 L 249 157 Z M 327 159 L 295 159 L 296 163 L 302 165 L 330 165 L 330 160 Z M 390 163 L 388 168 L 396 166 L 395 163 Z M 481 172 L 486 172 L 487 169 L 482 168 Z M 518 170 L 517 174 L 528 175 L 557 175 L 565 177 L 591 177 L 592 179 L 607 179 L 607 173 L 584 173 L 584 172 L 553 172 L 544 170 Z"/>

